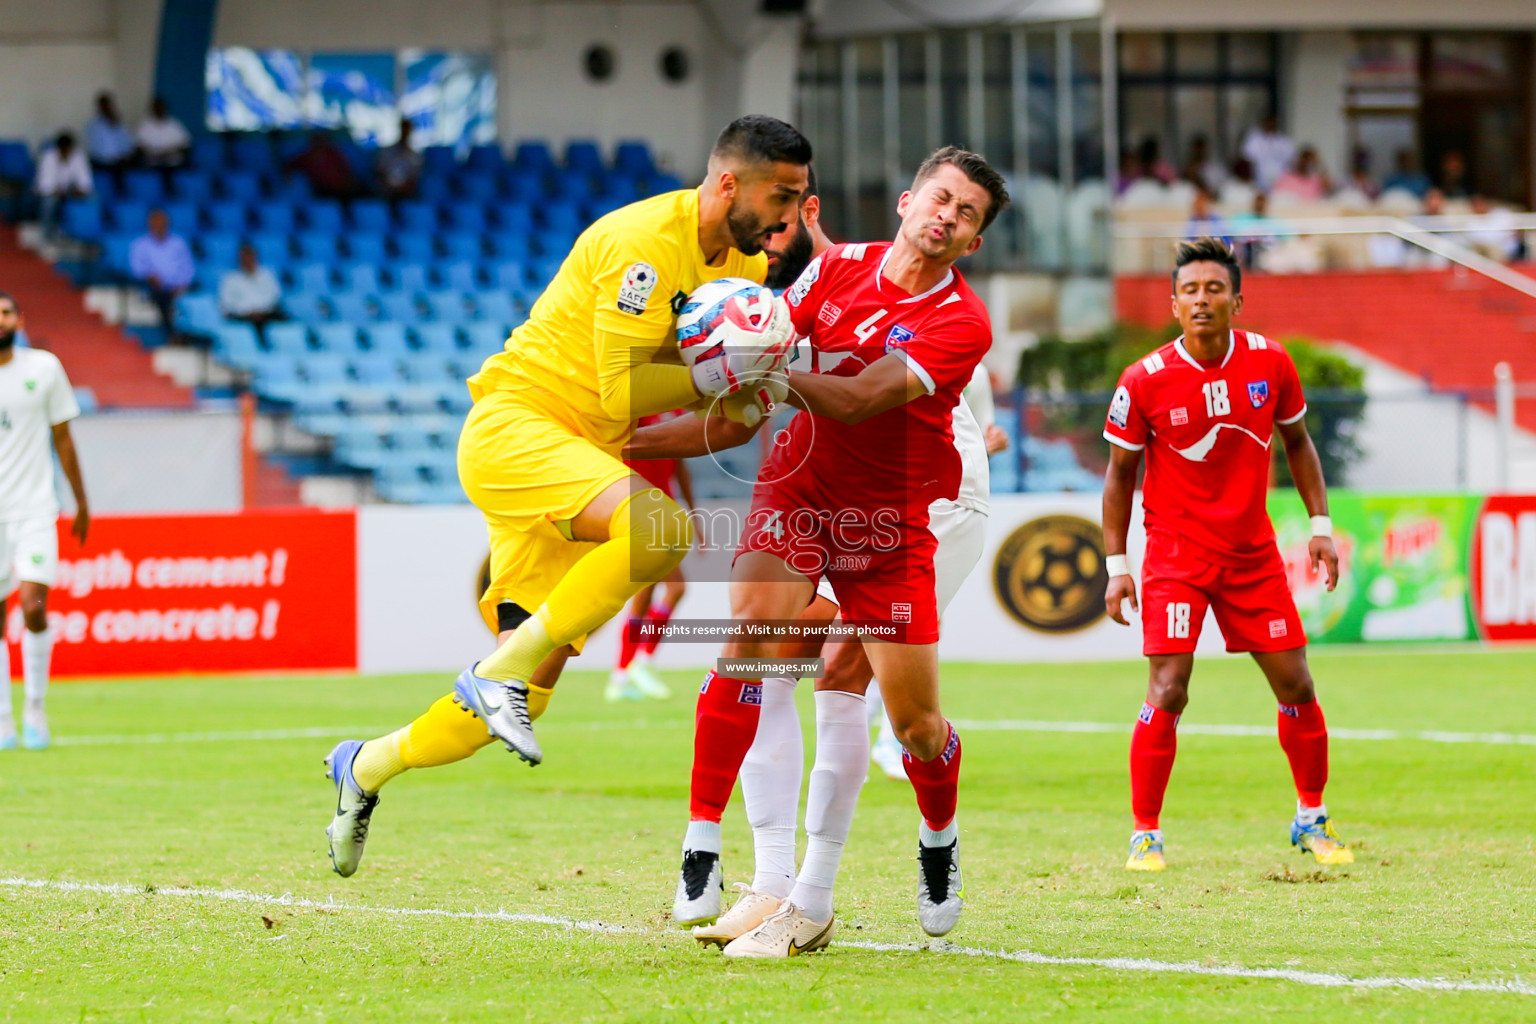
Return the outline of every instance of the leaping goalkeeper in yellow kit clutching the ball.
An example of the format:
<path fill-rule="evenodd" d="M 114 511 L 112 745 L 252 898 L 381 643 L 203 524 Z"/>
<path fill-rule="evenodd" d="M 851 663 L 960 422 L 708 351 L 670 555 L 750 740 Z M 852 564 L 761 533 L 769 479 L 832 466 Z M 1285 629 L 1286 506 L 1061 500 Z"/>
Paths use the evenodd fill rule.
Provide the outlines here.
<path fill-rule="evenodd" d="M 470 378 L 459 481 L 485 514 L 492 583 L 481 613 L 501 643 L 409 726 L 344 740 L 326 758 L 338 874 L 356 870 L 378 791 L 406 769 L 450 765 L 498 738 L 538 765 L 531 722 L 565 659 L 687 554 L 687 514 L 631 474 L 621 450 L 637 418 L 705 408 L 779 368 L 782 353 L 746 347 L 685 367 L 673 325 L 705 281 L 763 279 L 763 249 L 797 223 L 809 163 L 811 144 L 790 124 L 737 118 L 697 189 L 588 227 L 528 321 Z M 788 310 L 774 319 L 788 341 Z"/>

